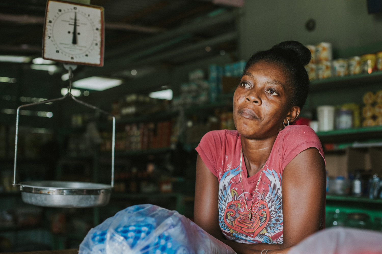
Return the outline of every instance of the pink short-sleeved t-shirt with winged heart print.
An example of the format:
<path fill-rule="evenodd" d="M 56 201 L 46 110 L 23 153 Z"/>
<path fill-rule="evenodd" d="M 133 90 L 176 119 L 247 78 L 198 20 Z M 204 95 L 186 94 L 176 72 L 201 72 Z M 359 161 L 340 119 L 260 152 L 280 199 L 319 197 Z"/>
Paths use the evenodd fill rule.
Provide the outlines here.
<path fill-rule="evenodd" d="M 316 147 L 324 158 L 321 142 L 309 126 L 290 125 L 281 130 L 264 165 L 256 193 L 261 171 L 247 177 L 243 158 L 244 198 L 239 174 L 240 134 L 220 130 L 204 135 L 196 150 L 219 180 L 219 225 L 227 239 L 238 243 L 283 243 L 281 177 L 285 166 L 309 147 Z M 252 195 L 254 202 L 250 208 Z M 252 211 L 252 220 L 244 202 Z"/>

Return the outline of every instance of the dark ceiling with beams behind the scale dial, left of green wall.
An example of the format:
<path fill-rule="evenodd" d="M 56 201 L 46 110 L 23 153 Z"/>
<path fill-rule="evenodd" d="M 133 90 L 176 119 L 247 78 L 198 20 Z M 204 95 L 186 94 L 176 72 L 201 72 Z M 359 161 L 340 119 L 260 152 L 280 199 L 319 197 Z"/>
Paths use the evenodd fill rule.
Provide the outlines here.
<path fill-rule="evenodd" d="M 235 7 L 216 2 L 221 0 L 91 0 L 105 9 L 105 64 L 83 66 L 75 78 L 129 78 L 131 68 L 171 68 L 235 51 Z M 0 54 L 41 55 L 45 5 L 0 1 Z"/>

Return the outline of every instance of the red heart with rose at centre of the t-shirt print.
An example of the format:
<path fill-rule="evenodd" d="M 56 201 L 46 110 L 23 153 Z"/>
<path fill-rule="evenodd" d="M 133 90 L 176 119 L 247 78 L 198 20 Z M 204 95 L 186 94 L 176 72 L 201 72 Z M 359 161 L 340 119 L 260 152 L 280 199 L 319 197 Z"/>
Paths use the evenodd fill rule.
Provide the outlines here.
<path fill-rule="evenodd" d="M 238 208 L 239 205 L 241 209 Z M 261 208 L 260 206 L 264 207 Z M 232 230 L 255 238 L 257 234 L 265 228 L 269 221 L 269 209 L 267 202 L 264 200 L 258 200 L 252 205 L 251 220 L 249 220 L 249 212 L 246 209 L 242 209 L 244 207 L 245 204 L 240 200 L 234 200 L 228 203 L 224 212 L 224 222 L 227 227 L 231 228 Z M 265 220 L 263 220 L 261 223 L 260 217 L 264 216 L 266 216 Z M 228 217 L 235 219 L 227 221 Z"/>

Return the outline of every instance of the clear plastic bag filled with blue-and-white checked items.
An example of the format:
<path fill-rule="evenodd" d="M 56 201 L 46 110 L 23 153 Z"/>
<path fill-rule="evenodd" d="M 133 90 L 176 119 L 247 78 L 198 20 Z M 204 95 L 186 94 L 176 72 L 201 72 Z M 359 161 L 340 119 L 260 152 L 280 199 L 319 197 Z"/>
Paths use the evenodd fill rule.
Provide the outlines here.
<path fill-rule="evenodd" d="M 130 206 L 92 228 L 79 254 L 235 254 L 176 211 Z"/>

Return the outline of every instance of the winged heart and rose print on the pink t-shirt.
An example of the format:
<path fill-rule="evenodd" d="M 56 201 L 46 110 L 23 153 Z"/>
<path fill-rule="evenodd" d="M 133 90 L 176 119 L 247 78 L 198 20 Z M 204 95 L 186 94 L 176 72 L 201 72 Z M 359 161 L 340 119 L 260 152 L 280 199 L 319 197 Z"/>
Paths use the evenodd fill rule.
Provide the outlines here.
<path fill-rule="evenodd" d="M 252 220 L 244 204 L 239 167 L 226 171 L 219 183 L 219 224 L 228 239 L 238 243 L 283 243 L 281 174 L 264 170 L 264 189 L 254 193 Z M 261 193 L 260 193 L 261 190 Z M 247 198 L 252 193 L 246 192 Z M 258 197 L 261 197 L 258 200 Z M 247 200 L 247 206 L 252 200 Z M 249 207 L 248 207 L 249 208 Z"/>

